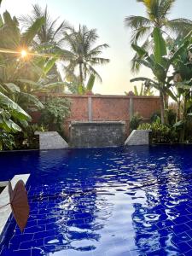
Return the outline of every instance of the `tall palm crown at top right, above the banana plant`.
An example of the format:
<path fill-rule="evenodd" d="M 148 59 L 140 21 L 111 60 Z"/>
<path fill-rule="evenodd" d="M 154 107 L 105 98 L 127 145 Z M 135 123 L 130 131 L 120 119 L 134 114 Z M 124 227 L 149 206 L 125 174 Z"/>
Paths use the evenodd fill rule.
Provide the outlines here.
<path fill-rule="evenodd" d="M 174 19 L 169 20 L 168 15 L 176 0 L 137 0 L 143 3 L 147 10 L 147 16 L 128 16 L 125 18 L 125 26 L 131 28 L 131 43 L 137 44 L 139 40 L 144 40 L 143 48 L 148 50 L 151 48 L 150 36 L 154 31 L 154 27 L 160 28 L 170 36 L 170 33 L 182 34 L 185 36 L 192 29 L 192 20 L 188 19 Z M 147 39 L 146 39 L 147 38 Z M 135 55 L 131 61 L 133 71 L 139 69 L 140 65 L 137 63 L 137 56 Z"/>

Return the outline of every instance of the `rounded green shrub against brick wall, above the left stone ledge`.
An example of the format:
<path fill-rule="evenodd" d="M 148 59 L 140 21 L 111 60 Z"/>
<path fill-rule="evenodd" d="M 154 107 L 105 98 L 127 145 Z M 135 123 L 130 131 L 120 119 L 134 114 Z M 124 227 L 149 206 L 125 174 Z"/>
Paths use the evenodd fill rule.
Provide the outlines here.
<path fill-rule="evenodd" d="M 63 121 L 70 114 L 71 102 L 66 98 L 49 98 L 44 104 L 40 123 L 49 131 L 62 132 Z"/>

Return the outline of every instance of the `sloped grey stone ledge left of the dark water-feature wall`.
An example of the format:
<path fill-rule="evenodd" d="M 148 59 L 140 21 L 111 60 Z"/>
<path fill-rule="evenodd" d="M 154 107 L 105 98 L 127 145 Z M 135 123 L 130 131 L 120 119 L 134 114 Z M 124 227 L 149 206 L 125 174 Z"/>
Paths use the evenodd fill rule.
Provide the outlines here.
<path fill-rule="evenodd" d="M 39 136 L 39 149 L 62 149 L 68 148 L 68 143 L 57 131 L 36 131 Z"/>

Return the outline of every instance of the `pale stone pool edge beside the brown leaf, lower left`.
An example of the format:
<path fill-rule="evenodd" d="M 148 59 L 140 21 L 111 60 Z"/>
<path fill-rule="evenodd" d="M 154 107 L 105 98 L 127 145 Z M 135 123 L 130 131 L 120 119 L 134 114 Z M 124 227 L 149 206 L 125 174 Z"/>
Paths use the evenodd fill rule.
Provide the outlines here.
<path fill-rule="evenodd" d="M 21 175 L 15 175 L 15 177 L 12 178 L 11 184 L 13 189 L 15 188 L 15 184 L 22 179 L 23 182 L 26 184 L 28 178 L 30 177 L 30 174 L 21 174 Z M 6 205 L 9 203 L 9 189 L 8 185 L 6 186 L 5 189 L 3 189 L 3 192 L 0 194 L 0 207 Z M 3 207 L 1 209 L 1 214 L 0 214 L 0 236 L 3 232 L 4 226 L 7 223 L 9 216 L 11 214 L 11 207 L 10 205 Z"/>

